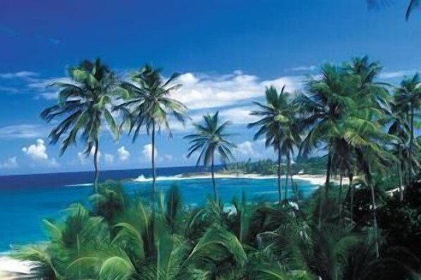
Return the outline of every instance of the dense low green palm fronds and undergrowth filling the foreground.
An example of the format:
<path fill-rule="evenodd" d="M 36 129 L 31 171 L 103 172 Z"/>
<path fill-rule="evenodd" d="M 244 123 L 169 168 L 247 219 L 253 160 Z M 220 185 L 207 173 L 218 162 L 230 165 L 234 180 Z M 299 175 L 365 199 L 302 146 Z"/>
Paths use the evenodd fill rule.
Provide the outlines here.
<path fill-rule="evenodd" d="M 245 194 L 233 208 L 213 199 L 194 208 L 177 187 L 152 206 L 115 183 L 100 185 L 92 207 L 70 205 L 63 222 L 46 220 L 49 242 L 14 256 L 39 262 L 40 279 L 419 279 L 420 190 L 410 184 L 403 203 L 398 193 L 382 196 L 378 256 L 365 186 L 353 220 L 349 205 L 338 215 L 337 197 L 329 196 L 318 227 L 320 192 L 300 210 Z"/>

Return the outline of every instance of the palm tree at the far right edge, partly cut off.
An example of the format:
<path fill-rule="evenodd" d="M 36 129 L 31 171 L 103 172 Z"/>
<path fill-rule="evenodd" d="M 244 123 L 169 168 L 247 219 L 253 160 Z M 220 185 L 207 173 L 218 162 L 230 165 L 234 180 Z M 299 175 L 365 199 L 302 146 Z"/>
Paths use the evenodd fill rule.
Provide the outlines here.
<path fill-rule="evenodd" d="M 401 87 L 396 90 L 394 96 L 396 110 L 406 117 L 406 122 L 410 127 L 409 155 L 413 158 L 415 148 L 415 121 L 419 117 L 421 110 L 421 77 L 415 74 L 412 78 L 403 79 Z M 412 179 L 413 174 L 417 173 L 417 166 L 410 160 L 409 176 Z"/>

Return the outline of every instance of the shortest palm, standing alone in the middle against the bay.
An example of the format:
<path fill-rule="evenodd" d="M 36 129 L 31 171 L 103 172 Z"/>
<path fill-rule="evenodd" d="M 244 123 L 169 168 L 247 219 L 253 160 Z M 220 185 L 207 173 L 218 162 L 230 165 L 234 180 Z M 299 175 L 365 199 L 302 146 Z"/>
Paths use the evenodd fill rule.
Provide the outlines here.
<path fill-rule="evenodd" d="M 230 149 L 235 147 L 235 145 L 227 139 L 227 137 L 232 134 L 227 134 L 225 132 L 228 125 L 230 125 L 230 122 L 223 122 L 222 125 L 220 125 L 218 115 L 218 111 L 214 115 L 204 115 L 203 125 L 194 124 L 197 133 L 184 136 L 184 139 L 190 139 L 187 158 L 200 151 L 196 165 L 199 165 L 201 161 L 203 161 L 203 165 L 205 166 L 211 164 L 213 193 L 217 203 L 219 199 L 215 184 L 215 153 L 218 153 L 223 163 L 227 163 L 233 158 Z"/>

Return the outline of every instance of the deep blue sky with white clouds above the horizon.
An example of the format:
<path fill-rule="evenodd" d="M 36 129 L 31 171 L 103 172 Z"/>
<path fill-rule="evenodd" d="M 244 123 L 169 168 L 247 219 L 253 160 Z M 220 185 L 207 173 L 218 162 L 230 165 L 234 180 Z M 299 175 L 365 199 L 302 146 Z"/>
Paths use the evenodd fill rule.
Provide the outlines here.
<path fill-rule="evenodd" d="M 395 3 L 394 3 L 395 2 Z M 172 96 L 193 122 L 220 110 L 231 120 L 237 160 L 273 157 L 246 124 L 252 101 L 274 85 L 299 91 L 322 63 L 368 55 L 396 83 L 421 68 L 421 11 L 406 22 L 406 1 L 367 8 L 364 0 L 2 0 L 0 2 L 0 174 L 92 170 L 82 144 L 62 156 L 39 113 L 54 105 L 66 70 L 100 57 L 118 75 L 144 63 L 182 75 Z M 158 167 L 194 165 L 191 132 L 172 122 L 157 139 Z M 103 170 L 149 167 L 150 138 L 100 138 Z"/>

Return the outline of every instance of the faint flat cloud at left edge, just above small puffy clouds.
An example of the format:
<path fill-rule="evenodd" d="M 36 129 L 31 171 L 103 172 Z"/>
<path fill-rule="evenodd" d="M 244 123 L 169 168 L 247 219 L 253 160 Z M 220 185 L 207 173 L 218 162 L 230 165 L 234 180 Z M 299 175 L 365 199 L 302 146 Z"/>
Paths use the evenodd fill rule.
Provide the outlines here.
<path fill-rule="evenodd" d="M 44 137 L 49 133 L 49 127 L 44 125 L 10 125 L 0 127 L 0 139 L 34 139 Z"/>

